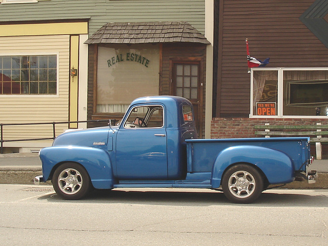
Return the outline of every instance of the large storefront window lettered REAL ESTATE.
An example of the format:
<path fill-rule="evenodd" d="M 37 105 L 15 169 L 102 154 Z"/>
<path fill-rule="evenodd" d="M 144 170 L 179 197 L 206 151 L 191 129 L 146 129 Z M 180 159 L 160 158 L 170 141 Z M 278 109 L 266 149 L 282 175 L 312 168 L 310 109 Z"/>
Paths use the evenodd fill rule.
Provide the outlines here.
<path fill-rule="evenodd" d="M 158 91 L 158 45 L 98 47 L 97 113 L 125 113 L 132 100 Z"/>

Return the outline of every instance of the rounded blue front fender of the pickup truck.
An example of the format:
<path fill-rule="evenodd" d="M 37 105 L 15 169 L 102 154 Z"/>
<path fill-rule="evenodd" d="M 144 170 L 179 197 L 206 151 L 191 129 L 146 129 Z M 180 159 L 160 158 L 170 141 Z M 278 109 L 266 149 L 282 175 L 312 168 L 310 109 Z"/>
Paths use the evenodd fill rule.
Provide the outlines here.
<path fill-rule="evenodd" d="M 40 151 L 40 159 L 44 181 L 52 178 L 50 175 L 59 163 L 73 161 L 87 170 L 94 188 L 113 188 L 111 160 L 105 150 L 74 146 L 49 147 Z"/>

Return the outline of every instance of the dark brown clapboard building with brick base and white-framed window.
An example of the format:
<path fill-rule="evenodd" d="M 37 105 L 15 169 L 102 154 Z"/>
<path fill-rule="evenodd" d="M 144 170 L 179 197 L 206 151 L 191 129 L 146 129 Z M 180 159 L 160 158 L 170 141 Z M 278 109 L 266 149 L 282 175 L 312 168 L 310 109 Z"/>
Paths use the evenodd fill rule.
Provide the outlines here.
<path fill-rule="evenodd" d="M 211 137 L 260 137 L 258 125 L 327 125 L 328 1 L 219 0 L 216 12 L 218 81 Z M 270 57 L 265 68 L 250 73 L 247 38 L 250 56 Z M 277 110 L 270 116 L 258 113 L 258 104 L 266 101 Z M 312 155 L 315 150 L 313 144 Z M 328 158 L 326 143 L 322 152 L 319 156 Z"/>

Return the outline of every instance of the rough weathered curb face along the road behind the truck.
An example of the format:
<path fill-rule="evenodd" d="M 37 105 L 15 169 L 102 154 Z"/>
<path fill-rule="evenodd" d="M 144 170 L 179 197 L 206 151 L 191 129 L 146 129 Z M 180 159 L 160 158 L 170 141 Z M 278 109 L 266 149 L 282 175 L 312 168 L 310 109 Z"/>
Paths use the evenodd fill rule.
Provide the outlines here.
<path fill-rule="evenodd" d="M 19 167 L 16 170 L 13 167 L 2 167 L 0 170 L 0 183 L 6 184 L 25 184 L 34 185 L 33 179 L 37 175 L 42 175 L 41 168 Z M 328 189 L 328 173 L 318 173 L 315 183 L 308 181 L 294 181 L 279 189 Z"/>

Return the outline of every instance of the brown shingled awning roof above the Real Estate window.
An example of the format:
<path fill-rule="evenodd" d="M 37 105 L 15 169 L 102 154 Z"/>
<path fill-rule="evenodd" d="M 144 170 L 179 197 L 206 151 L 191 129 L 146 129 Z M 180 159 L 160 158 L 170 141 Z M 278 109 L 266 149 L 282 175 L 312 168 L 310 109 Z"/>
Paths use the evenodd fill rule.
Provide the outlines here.
<path fill-rule="evenodd" d="M 206 37 L 188 22 L 107 23 L 92 34 L 85 44 L 147 44 L 176 42 L 210 44 Z"/>

